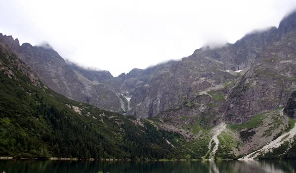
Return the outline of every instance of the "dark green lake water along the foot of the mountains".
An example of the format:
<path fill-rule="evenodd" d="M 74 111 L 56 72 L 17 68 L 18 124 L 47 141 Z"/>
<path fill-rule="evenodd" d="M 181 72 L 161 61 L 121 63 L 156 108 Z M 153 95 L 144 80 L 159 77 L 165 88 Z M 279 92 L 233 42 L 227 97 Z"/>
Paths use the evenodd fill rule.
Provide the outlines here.
<path fill-rule="evenodd" d="M 296 173 L 296 160 L 97 162 L 1 160 L 0 173 Z"/>

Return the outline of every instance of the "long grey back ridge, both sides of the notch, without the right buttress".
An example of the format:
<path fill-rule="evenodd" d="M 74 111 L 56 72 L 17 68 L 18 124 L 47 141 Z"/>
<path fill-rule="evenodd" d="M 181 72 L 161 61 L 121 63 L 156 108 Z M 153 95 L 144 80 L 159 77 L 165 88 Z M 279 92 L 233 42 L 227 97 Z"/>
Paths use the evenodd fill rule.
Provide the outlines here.
<path fill-rule="evenodd" d="M 42 47 L 28 43 L 19 46 L 18 40 L 5 38 L 2 34 L 0 38 L 55 91 L 77 101 L 144 118 L 180 107 L 184 100 L 191 101 L 198 93 L 221 90 L 222 85 L 236 79 L 238 73 L 235 71 L 243 70 L 245 73 L 265 47 L 279 42 L 287 32 L 294 30 L 295 13 L 286 16 L 278 28 L 249 33 L 235 43 L 219 48 L 202 47 L 180 61 L 161 63 L 144 70 L 133 69 L 118 77 L 113 77 L 108 71 L 87 70 L 73 63 L 67 64 L 54 50 L 40 51 Z"/>

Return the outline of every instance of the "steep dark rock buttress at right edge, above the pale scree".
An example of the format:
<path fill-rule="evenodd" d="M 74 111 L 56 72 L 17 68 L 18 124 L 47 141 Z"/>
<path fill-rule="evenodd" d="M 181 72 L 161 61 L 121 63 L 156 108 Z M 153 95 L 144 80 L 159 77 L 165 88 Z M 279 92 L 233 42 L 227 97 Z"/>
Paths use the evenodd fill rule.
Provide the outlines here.
<path fill-rule="evenodd" d="M 230 93 L 225 118 L 240 124 L 261 112 L 285 106 L 296 89 L 295 50 L 295 31 L 266 46 Z"/>

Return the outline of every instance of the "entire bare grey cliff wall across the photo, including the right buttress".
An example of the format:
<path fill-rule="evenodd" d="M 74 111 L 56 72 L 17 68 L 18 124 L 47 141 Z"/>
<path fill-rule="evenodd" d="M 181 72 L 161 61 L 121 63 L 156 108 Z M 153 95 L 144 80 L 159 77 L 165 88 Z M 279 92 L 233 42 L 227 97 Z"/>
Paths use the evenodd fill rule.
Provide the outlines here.
<path fill-rule="evenodd" d="M 141 118 L 197 117 L 194 121 L 213 126 L 245 123 L 287 103 L 296 87 L 295 33 L 296 12 L 279 28 L 253 32 L 219 48 L 202 47 L 180 61 L 115 78 L 108 71 L 66 63 L 50 46 L 19 45 L 2 35 L 0 42 L 47 86 L 74 100 Z"/>

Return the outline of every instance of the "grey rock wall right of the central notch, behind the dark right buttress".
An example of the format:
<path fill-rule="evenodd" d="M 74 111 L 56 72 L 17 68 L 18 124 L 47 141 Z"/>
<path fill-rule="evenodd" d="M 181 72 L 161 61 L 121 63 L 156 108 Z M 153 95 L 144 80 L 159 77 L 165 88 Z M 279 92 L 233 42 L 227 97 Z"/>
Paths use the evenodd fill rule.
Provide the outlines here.
<path fill-rule="evenodd" d="M 202 91 L 236 80 L 234 71 L 249 68 L 263 47 L 270 40 L 278 39 L 273 37 L 276 33 L 276 28 L 270 28 L 249 34 L 234 44 L 217 49 L 203 47 L 181 61 L 170 61 L 142 71 L 124 83 L 131 86 L 125 89 L 133 95 L 128 114 L 156 116 L 182 105 L 184 100 L 191 101 Z"/>

